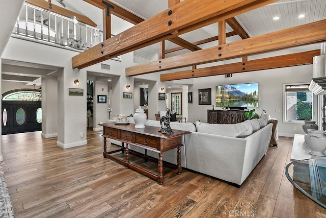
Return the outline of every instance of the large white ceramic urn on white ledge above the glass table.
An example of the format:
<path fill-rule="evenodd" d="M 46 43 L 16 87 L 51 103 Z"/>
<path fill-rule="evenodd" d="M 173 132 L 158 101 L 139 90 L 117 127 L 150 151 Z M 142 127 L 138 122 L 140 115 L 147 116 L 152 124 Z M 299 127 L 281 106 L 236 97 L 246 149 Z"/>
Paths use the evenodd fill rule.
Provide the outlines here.
<path fill-rule="evenodd" d="M 311 150 L 309 154 L 324 157 L 322 151 L 326 150 L 326 135 L 325 131 L 308 129 L 308 134 L 305 135 L 305 142 Z"/>

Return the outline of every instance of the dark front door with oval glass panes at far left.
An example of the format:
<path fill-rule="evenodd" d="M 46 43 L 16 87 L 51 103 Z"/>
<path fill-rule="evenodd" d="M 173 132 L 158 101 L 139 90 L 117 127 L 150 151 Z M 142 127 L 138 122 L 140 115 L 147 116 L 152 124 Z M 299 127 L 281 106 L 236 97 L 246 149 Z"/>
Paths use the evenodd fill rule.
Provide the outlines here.
<path fill-rule="evenodd" d="M 2 134 L 42 130 L 41 101 L 2 101 Z"/>

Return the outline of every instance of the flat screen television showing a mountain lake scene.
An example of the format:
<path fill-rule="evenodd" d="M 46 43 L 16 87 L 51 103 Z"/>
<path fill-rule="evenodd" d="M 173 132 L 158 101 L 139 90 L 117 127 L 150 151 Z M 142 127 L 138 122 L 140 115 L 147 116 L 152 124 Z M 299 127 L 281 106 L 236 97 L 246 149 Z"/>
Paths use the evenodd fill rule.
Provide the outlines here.
<path fill-rule="evenodd" d="M 219 85 L 215 87 L 216 107 L 258 107 L 258 83 Z"/>

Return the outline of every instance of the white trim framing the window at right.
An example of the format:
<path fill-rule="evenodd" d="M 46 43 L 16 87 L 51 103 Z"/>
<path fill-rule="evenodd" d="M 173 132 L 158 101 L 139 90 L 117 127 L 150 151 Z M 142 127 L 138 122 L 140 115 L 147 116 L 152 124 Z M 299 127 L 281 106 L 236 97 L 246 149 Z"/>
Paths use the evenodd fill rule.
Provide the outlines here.
<path fill-rule="evenodd" d="M 285 98 L 285 87 L 287 85 L 303 85 L 303 84 L 310 84 L 310 82 L 302 82 L 302 83 L 283 83 L 283 123 L 286 124 L 303 124 L 304 120 L 286 120 L 286 98 Z M 316 121 L 318 123 L 318 115 L 317 115 L 317 108 L 318 108 L 318 99 L 317 95 L 313 94 L 312 98 L 312 120 Z"/>

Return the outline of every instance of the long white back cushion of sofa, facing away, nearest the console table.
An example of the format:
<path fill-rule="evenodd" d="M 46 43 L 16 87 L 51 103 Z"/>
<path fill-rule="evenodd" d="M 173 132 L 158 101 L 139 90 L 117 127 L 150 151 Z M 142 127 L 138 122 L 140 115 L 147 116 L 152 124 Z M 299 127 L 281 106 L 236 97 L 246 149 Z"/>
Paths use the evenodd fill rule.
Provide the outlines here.
<path fill-rule="evenodd" d="M 196 122 L 197 132 L 208 133 L 213 135 L 223 135 L 237 137 L 243 132 L 249 130 L 248 125 L 239 124 L 207 124 Z"/>

